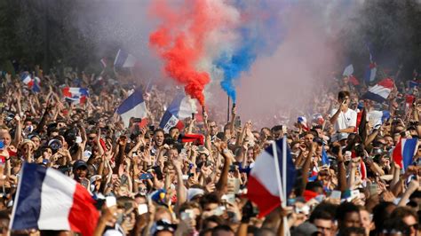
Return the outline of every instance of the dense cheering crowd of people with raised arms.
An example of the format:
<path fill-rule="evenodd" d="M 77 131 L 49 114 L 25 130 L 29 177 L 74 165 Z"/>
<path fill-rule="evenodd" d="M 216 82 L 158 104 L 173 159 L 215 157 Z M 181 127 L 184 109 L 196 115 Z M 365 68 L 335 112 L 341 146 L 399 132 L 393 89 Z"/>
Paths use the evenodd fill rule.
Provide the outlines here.
<path fill-rule="evenodd" d="M 3 235 L 78 233 L 9 229 L 24 162 L 58 169 L 91 193 L 100 211 L 94 235 L 417 235 L 421 146 L 408 167 L 393 161 L 401 138 L 421 135 L 417 86 L 395 82 L 380 104 L 362 99 L 367 86 L 344 77 L 317 95 L 314 113 L 321 115 L 292 126 L 258 129 L 237 122 L 241 107 L 234 107 L 229 122 L 203 113 L 165 132 L 159 122 L 174 91 L 148 88 L 148 123 L 131 119 L 125 127 L 115 108 L 133 86 L 112 75 L 33 74 L 39 92 L 19 75 L 2 74 Z M 61 90 L 68 86 L 88 88 L 89 98 L 69 102 Z M 374 110 L 390 115 L 364 117 Z M 188 134 L 199 138 L 186 142 Z M 283 137 L 295 185 L 286 207 L 258 217 L 247 198 L 250 170 Z M 107 204 L 113 197 L 116 204 Z"/>

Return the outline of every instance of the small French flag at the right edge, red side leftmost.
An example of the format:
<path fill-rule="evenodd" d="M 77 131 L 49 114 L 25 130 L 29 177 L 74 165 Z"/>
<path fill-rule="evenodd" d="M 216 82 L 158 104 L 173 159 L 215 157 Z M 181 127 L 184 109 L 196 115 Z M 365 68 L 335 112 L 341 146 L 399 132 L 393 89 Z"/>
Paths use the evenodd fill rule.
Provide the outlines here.
<path fill-rule="evenodd" d="M 412 163 L 412 158 L 417 151 L 417 138 L 401 138 L 393 149 L 393 161 L 397 163 L 401 169 L 407 169 Z"/>

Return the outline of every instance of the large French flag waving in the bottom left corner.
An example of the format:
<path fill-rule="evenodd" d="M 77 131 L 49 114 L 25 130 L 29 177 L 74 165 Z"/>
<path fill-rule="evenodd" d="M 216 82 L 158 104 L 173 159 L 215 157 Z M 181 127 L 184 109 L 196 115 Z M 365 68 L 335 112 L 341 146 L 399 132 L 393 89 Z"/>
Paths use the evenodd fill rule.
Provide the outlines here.
<path fill-rule="evenodd" d="M 24 163 L 12 209 L 12 230 L 73 231 L 92 235 L 99 219 L 91 194 L 52 168 Z"/>

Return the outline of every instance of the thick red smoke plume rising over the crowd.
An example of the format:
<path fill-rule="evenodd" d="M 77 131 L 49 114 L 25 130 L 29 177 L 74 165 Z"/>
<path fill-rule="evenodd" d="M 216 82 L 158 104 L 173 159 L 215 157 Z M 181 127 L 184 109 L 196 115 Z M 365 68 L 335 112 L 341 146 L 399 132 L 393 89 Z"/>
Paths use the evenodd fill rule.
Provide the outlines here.
<path fill-rule="evenodd" d="M 185 85 L 187 94 L 204 105 L 203 90 L 211 77 L 197 71 L 196 64 L 203 58 L 206 35 L 226 24 L 223 4 L 215 0 L 186 0 L 173 6 L 157 1 L 150 14 L 163 20 L 162 25 L 149 36 L 165 61 L 165 72 Z"/>

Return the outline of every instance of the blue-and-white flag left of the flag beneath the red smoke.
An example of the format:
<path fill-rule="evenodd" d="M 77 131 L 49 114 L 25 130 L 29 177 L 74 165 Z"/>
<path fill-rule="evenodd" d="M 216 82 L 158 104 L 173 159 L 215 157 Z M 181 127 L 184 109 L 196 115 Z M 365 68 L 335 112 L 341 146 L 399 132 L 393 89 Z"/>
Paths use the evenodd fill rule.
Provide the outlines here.
<path fill-rule="evenodd" d="M 130 119 L 133 118 L 146 118 L 147 105 L 143 99 L 142 90 L 136 89 L 131 93 L 129 98 L 126 98 L 123 103 L 117 107 L 115 111 L 120 114 L 124 125 L 129 127 Z"/>

